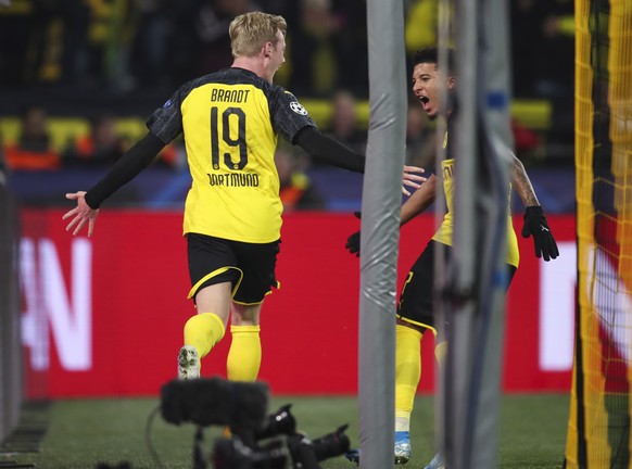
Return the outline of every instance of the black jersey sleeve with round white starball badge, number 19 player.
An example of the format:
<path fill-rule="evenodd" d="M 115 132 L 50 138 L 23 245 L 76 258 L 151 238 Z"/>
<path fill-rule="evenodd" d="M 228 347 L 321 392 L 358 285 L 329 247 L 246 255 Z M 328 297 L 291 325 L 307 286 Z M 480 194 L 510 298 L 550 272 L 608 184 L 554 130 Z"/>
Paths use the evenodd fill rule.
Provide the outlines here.
<path fill-rule="evenodd" d="M 316 127 L 307 110 L 291 92 L 278 87 L 270 101 L 270 117 L 275 131 L 291 143 L 305 127 Z"/>

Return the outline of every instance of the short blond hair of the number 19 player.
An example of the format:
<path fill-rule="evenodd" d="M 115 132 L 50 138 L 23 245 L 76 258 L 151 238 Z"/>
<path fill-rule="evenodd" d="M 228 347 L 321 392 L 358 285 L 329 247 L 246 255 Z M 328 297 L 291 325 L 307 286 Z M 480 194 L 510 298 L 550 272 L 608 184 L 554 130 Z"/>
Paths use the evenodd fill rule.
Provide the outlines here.
<path fill-rule="evenodd" d="M 232 56 L 254 56 L 266 42 L 276 48 L 278 42 L 277 30 L 283 36 L 288 24 L 282 16 L 262 12 L 249 12 L 237 16 L 230 23 L 230 47 Z"/>

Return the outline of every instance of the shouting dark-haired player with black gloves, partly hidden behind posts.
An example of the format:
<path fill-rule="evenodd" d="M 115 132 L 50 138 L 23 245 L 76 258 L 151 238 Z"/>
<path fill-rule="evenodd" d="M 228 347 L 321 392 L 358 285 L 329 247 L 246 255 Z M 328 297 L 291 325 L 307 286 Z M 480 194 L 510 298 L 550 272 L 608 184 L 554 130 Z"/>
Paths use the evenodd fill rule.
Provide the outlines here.
<path fill-rule="evenodd" d="M 413 93 L 421 104 L 429 118 L 442 116 L 446 121 L 446 132 L 443 139 L 445 159 L 441 162 L 443 190 L 447 206 L 443 221 L 426 249 L 408 272 L 404 283 L 396 310 L 395 327 L 395 447 L 396 464 L 407 462 L 410 458 L 409 421 L 417 386 L 421 377 L 420 342 L 424 332 L 432 331 L 437 338 L 435 356 L 441 363 L 445 355 L 446 342 L 437 337 L 435 319 L 433 316 L 433 284 L 434 284 L 434 255 L 439 243 L 443 244 L 446 256 L 452 255 L 452 237 L 454 229 L 454 165 L 460 157 L 456 155 L 453 144 L 454 122 L 456 109 L 454 91 L 457 78 L 452 66 L 453 51 L 448 51 L 447 65 L 439 66 L 438 49 L 430 48 L 417 52 L 413 68 Z M 447 90 L 447 102 L 442 102 L 441 89 Z M 524 226 L 522 236 L 533 236 L 535 255 L 544 261 L 556 258 L 559 255 L 553 233 L 540 206 L 531 181 L 524 172 L 522 163 L 514 155 L 511 166 L 511 186 L 519 194 L 526 206 Z M 401 208 L 401 225 L 406 224 L 424 212 L 435 199 L 438 178 L 435 174 L 419 188 Z M 508 212 L 508 211 L 507 211 Z M 359 231 L 352 234 L 346 243 L 350 252 L 359 255 Z M 510 215 L 507 217 L 507 272 L 508 283 L 516 272 L 519 263 L 518 241 Z M 357 459 L 359 455 L 350 453 L 350 459 Z M 441 455 L 427 466 L 426 469 L 443 467 Z"/>

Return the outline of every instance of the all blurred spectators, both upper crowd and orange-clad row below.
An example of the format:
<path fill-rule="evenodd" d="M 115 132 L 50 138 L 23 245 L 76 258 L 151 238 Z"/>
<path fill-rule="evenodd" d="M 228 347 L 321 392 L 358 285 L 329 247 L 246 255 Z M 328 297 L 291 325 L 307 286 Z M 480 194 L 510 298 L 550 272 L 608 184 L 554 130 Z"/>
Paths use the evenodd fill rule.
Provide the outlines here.
<path fill-rule="evenodd" d="M 437 43 L 439 0 L 404 4 L 410 59 Z M 572 157 L 573 2 L 510 0 L 509 5 L 514 94 L 552 104 L 546 138 Z M 90 98 L 149 93 L 152 106 L 160 104 L 184 81 L 231 64 L 228 25 L 252 10 L 288 21 L 287 63 L 275 80 L 301 98 L 329 101 L 330 118 L 319 125 L 364 152 L 367 129 L 359 123 L 357 102 L 368 98 L 366 0 L 12 0 L 0 5 L 0 89 L 28 90 L 38 98 L 20 103 L 13 113 L 17 135 L 2 141 L 0 127 L 0 175 L 3 168 L 111 166 L 135 141 L 117 132 L 117 109 L 97 110 Z M 86 102 L 78 117 L 89 129 L 52 145 L 48 113 L 59 110 L 47 106 L 47 97 L 68 90 Z M 0 119 L 2 114 L 7 111 L 0 106 Z M 416 102 L 407 115 L 407 163 L 425 166 L 435 147 L 434 127 Z M 536 154 L 543 136 L 513 124 L 519 156 Z M 280 173 L 287 174 L 282 183 L 293 188 L 286 200 L 300 207 L 308 193 L 307 205 L 318 207 L 306 176 L 311 162 L 293 149 L 279 154 Z M 181 168 L 181 142 L 168 145 L 155 164 Z"/>

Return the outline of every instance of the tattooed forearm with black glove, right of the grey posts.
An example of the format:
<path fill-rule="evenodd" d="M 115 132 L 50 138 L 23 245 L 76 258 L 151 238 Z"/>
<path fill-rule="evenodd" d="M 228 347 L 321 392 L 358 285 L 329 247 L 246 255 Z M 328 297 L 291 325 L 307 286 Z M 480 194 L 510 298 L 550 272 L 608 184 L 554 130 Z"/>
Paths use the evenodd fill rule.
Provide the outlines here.
<path fill-rule="evenodd" d="M 522 226 L 522 237 L 533 237 L 533 245 L 535 249 L 535 256 L 543 257 L 544 261 L 551 261 L 559 255 L 557 243 L 551 232 L 544 211 L 540 206 L 533 186 L 524 166 L 514 156 L 511 165 L 511 186 L 518 192 L 520 200 L 524 204 L 524 225 Z"/>

